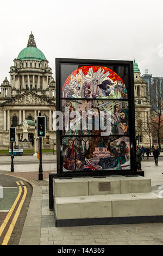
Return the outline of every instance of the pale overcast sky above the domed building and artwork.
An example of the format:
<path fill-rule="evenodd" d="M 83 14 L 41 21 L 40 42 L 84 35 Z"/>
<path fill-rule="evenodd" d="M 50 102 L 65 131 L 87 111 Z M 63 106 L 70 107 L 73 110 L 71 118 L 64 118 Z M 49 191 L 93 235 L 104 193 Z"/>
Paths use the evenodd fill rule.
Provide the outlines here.
<path fill-rule="evenodd" d="M 133 60 L 163 77 L 163 2 L 160 0 L 6 0 L 0 8 L 0 83 L 32 31 L 37 48 L 55 58 Z"/>

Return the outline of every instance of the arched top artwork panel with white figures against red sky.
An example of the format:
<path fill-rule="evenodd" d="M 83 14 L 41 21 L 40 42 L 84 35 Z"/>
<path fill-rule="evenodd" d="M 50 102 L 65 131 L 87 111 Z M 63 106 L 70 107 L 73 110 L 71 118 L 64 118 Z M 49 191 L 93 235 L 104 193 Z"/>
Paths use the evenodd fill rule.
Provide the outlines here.
<path fill-rule="evenodd" d="M 128 99 L 120 76 L 105 66 L 82 66 L 62 86 L 61 96 L 74 99 Z"/>

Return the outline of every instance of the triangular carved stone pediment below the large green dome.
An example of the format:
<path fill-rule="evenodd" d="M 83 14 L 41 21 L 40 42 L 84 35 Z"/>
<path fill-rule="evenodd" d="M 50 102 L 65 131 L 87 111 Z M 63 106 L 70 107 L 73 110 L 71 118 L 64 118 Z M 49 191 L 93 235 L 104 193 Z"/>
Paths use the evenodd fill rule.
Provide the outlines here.
<path fill-rule="evenodd" d="M 7 105 L 48 105 L 48 106 L 55 106 L 55 103 L 45 99 L 44 97 L 37 95 L 33 92 L 28 92 L 21 94 L 20 96 L 16 96 L 11 100 L 7 100 L 1 104 L 1 106 Z"/>

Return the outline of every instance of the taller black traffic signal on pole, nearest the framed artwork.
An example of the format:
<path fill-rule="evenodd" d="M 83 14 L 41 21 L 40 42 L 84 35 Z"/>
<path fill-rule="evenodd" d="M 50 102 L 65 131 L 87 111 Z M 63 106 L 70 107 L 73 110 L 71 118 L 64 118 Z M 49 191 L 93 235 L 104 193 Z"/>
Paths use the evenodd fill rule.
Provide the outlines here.
<path fill-rule="evenodd" d="M 42 138 L 46 137 L 46 125 L 45 125 L 45 117 L 41 116 L 39 113 L 39 117 L 37 117 L 36 121 L 36 134 L 37 138 L 39 138 L 40 144 L 40 164 L 39 164 L 39 180 L 43 180 L 43 171 L 42 171 Z"/>

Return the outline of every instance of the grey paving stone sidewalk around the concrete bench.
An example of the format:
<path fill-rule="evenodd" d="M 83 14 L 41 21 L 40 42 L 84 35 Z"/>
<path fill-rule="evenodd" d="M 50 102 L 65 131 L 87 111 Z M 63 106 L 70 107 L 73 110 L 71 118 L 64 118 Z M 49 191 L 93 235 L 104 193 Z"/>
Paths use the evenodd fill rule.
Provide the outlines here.
<path fill-rule="evenodd" d="M 142 167 L 157 192 L 163 185 L 163 161 L 158 167 L 145 161 Z M 55 227 L 53 211 L 49 210 L 48 179 L 45 181 L 47 185 L 34 186 L 20 245 L 163 245 L 163 223 Z"/>

